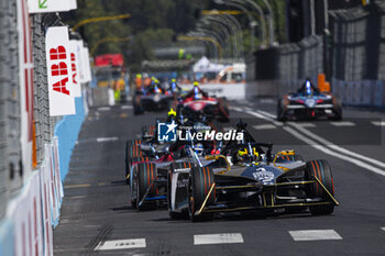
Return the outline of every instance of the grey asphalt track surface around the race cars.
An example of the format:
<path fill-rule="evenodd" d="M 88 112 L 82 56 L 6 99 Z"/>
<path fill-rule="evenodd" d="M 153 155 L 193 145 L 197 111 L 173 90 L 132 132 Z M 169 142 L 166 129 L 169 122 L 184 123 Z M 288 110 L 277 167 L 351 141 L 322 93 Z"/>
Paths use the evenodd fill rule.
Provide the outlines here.
<path fill-rule="evenodd" d="M 231 111 L 231 116 L 249 121 L 254 135 L 261 141 L 276 143 L 277 149 L 294 148 L 305 159 L 327 159 L 330 163 L 336 197 L 341 203 L 332 215 L 246 219 L 235 215 L 219 216 L 213 222 L 191 223 L 173 221 L 162 209 L 138 212 L 130 205 L 130 193 L 124 183 L 124 142 L 138 138 L 143 124 L 153 124 L 155 116 L 165 116 L 165 113 L 133 116 L 130 107 L 95 108 L 82 125 L 64 182 L 61 222 L 54 230 L 55 255 L 385 254 L 385 231 L 382 230 L 385 227 L 384 176 L 305 144 L 284 130 L 287 125 L 272 126 L 270 121 L 246 113 L 262 110 L 274 114 L 274 101 L 231 103 L 239 108 L 239 111 Z M 317 121 L 311 122 L 315 126 L 310 125 L 307 130 L 328 141 L 338 141 L 338 145 L 349 151 L 385 162 L 384 129 L 380 127 L 378 132 L 371 125 L 373 120 L 385 120 L 385 115 L 344 109 L 344 118 L 354 126 L 336 126 L 329 121 Z M 289 231 L 299 230 L 333 230 L 342 240 L 295 242 Z M 194 235 L 221 233 L 240 233 L 244 242 L 194 245 Z M 144 238 L 146 246 L 95 251 L 100 242 L 130 238 Z"/>

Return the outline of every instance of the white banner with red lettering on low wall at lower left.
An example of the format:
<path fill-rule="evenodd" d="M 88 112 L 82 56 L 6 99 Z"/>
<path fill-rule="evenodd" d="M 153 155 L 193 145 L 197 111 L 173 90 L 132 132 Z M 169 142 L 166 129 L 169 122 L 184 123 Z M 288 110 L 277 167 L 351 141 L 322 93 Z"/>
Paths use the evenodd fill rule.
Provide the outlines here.
<path fill-rule="evenodd" d="M 7 218 L 13 223 L 13 255 L 53 255 L 53 225 L 58 223 L 64 196 L 58 168 L 55 137 L 53 144 L 45 147 L 41 168 L 31 172 L 21 194 L 8 208 Z"/>

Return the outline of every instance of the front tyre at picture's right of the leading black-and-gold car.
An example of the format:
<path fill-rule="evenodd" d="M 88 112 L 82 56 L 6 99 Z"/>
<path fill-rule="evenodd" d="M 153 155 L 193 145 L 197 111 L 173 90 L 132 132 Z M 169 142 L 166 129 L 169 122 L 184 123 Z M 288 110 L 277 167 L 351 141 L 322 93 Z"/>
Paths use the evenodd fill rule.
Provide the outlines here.
<path fill-rule="evenodd" d="M 327 160 L 309 160 L 306 163 L 307 175 L 310 179 L 317 177 L 322 185 L 328 189 L 328 191 L 334 196 L 334 185 L 333 185 L 333 176 L 331 174 L 331 168 Z M 314 198 L 322 198 L 324 201 L 330 201 L 330 196 L 327 191 L 322 189 L 319 183 L 310 185 L 310 197 Z M 333 202 L 332 202 L 333 203 Z M 324 215 L 331 214 L 334 210 L 334 204 L 324 204 L 324 205 L 314 205 L 310 207 L 310 212 L 314 215 Z"/>

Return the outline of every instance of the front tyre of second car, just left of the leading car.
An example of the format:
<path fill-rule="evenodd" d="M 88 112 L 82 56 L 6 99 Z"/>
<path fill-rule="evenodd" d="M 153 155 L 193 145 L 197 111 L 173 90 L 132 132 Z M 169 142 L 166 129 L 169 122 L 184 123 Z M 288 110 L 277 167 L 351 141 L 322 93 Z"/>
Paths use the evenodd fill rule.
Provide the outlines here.
<path fill-rule="evenodd" d="M 143 163 L 136 165 L 136 208 L 138 210 L 151 210 L 156 205 L 156 202 L 147 202 L 143 198 L 152 198 L 156 196 L 156 178 L 157 168 L 153 163 Z M 147 189 L 148 193 L 146 193 Z M 143 203 L 140 205 L 141 201 Z"/>

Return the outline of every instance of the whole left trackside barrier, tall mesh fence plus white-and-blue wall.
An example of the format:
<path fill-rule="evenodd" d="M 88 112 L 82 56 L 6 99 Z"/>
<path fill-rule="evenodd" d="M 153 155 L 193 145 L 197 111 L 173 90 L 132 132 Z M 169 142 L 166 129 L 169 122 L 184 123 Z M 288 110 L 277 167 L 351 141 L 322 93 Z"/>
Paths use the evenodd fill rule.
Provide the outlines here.
<path fill-rule="evenodd" d="M 76 115 L 50 116 L 45 31 L 62 23 L 26 4 L 0 1 L 0 256 L 53 255 L 62 180 L 92 103 L 85 85 Z"/>

